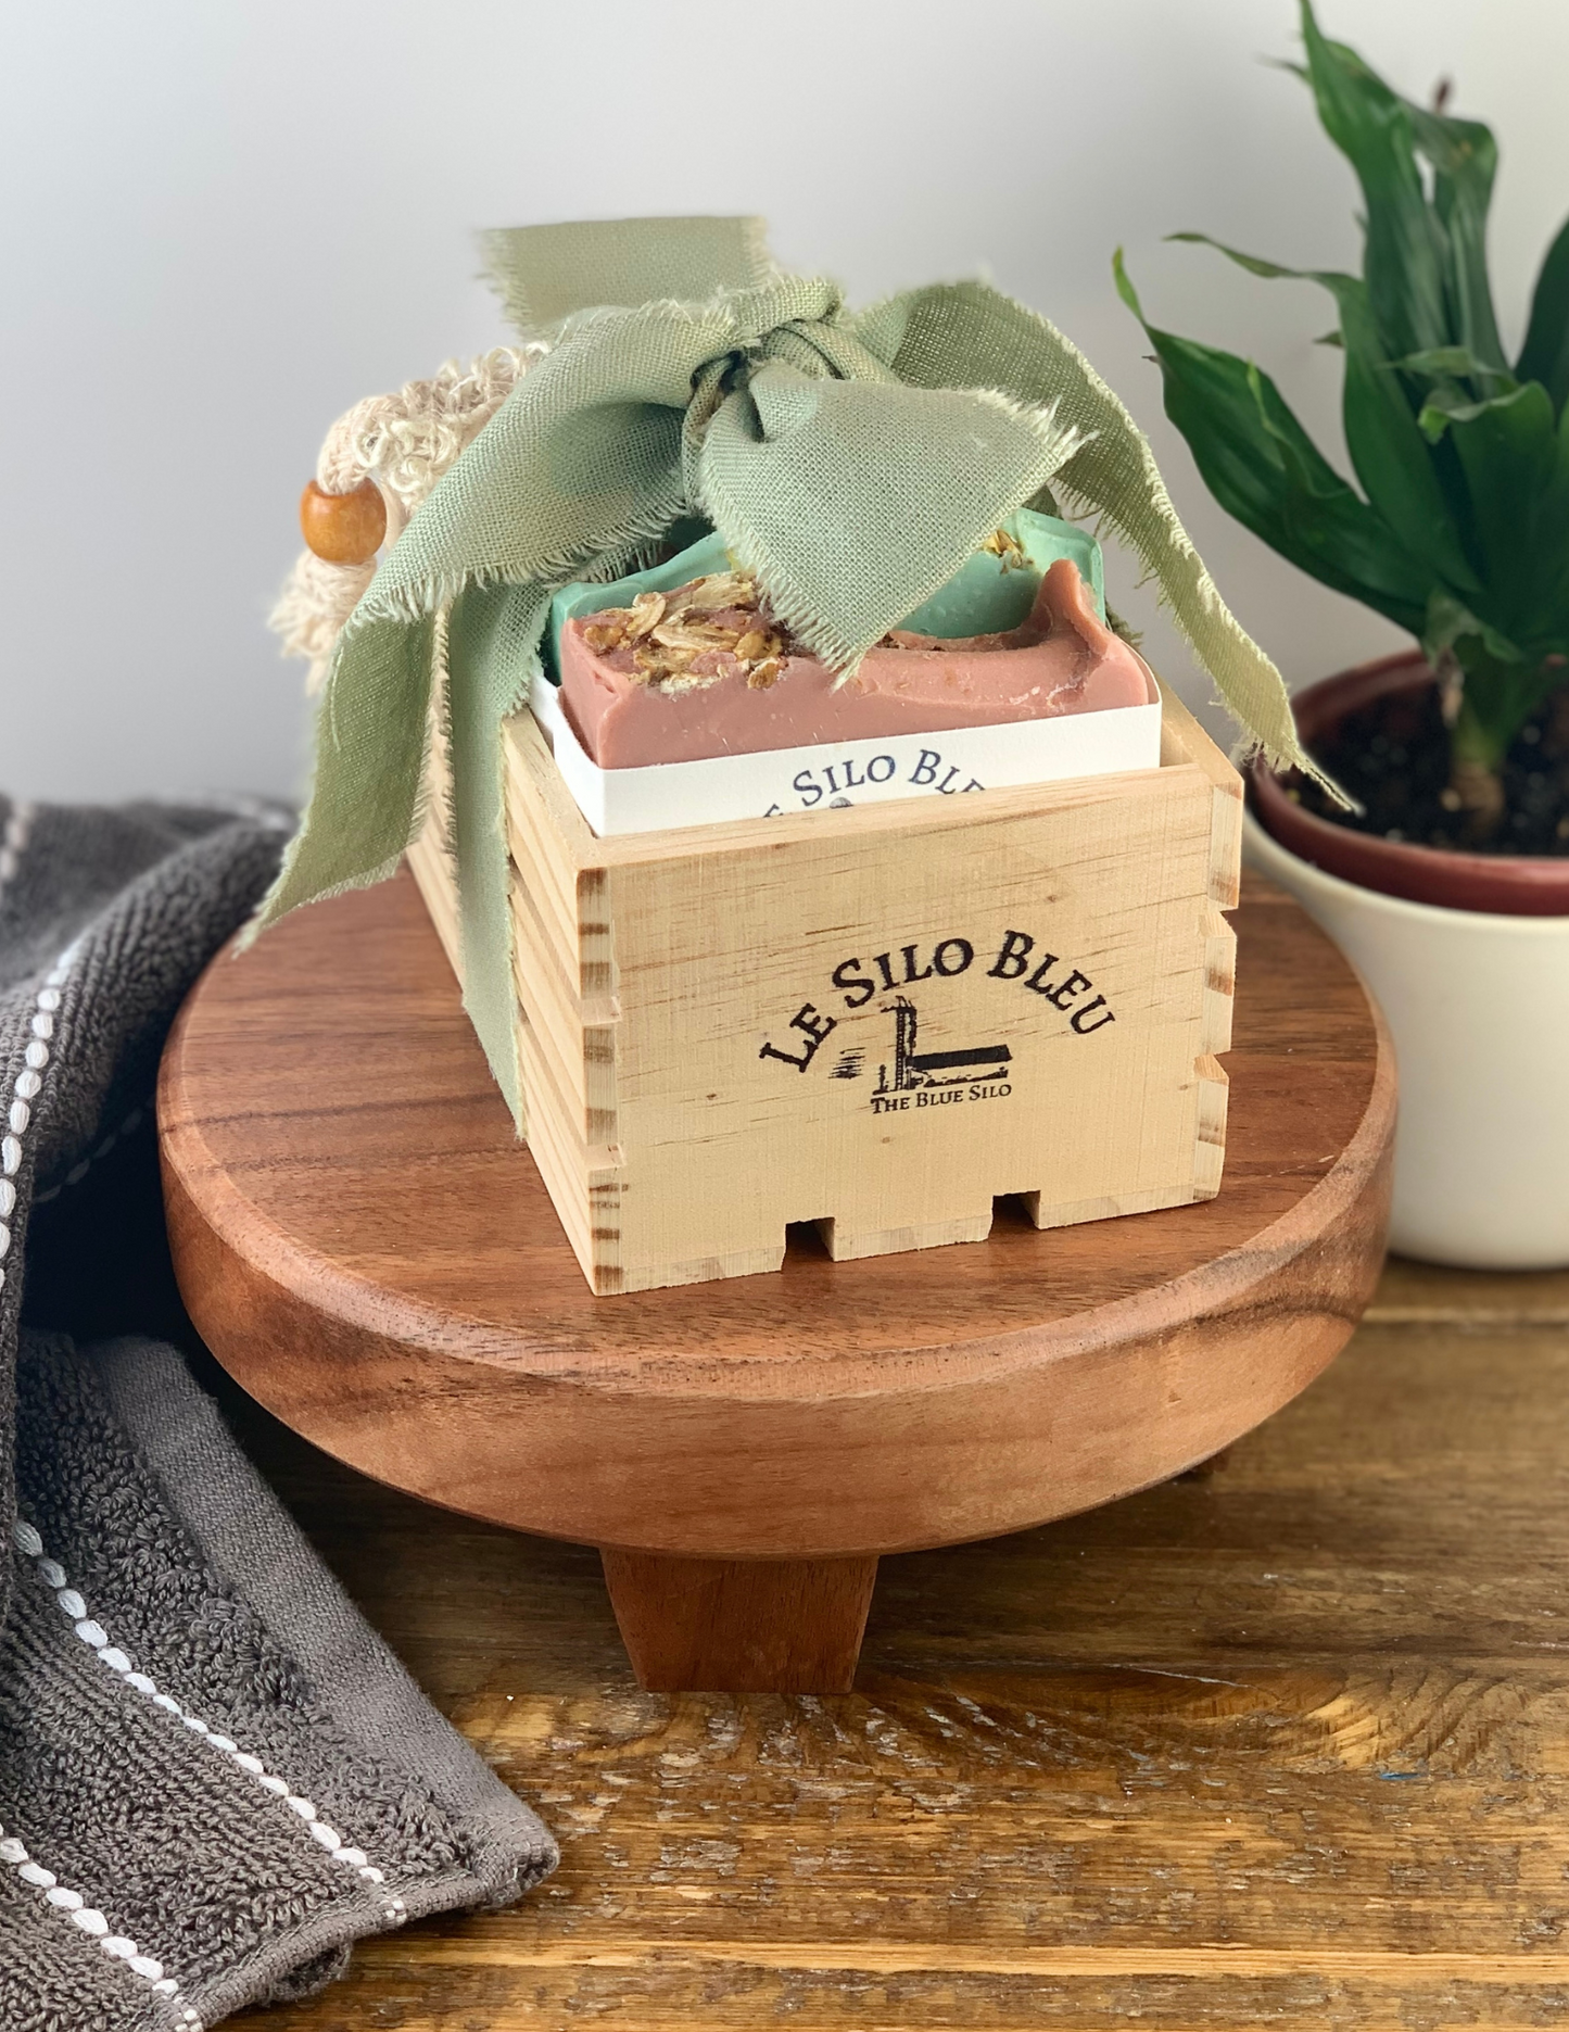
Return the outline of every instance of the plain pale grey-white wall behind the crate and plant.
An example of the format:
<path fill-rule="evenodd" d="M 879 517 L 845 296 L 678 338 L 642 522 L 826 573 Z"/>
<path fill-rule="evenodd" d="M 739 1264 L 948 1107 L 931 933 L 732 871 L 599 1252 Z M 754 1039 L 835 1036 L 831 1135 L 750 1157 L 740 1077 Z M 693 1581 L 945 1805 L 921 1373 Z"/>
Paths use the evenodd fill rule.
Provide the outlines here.
<path fill-rule="evenodd" d="M 1329 33 L 1490 118 L 1518 337 L 1569 211 L 1565 0 L 1323 0 Z M 1354 266 L 1354 185 L 1293 0 L 4 0 L 0 782 L 49 797 L 291 790 L 307 715 L 264 616 L 295 502 L 362 394 L 506 337 L 472 232 L 760 211 L 866 301 L 984 266 L 1150 431 L 1179 510 L 1289 681 L 1398 638 L 1207 498 L 1110 280 L 1252 354 L 1339 445 L 1331 323 L 1160 236 Z M 1136 620 L 1148 601 L 1112 567 Z M 1154 622 L 1150 648 L 1203 695 Z"/>

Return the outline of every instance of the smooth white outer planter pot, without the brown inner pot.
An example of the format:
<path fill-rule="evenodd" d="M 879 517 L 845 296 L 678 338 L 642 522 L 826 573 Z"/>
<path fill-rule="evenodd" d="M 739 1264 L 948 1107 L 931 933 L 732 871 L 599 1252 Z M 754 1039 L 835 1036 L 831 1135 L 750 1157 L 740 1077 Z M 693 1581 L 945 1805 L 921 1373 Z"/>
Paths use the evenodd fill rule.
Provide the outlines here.
<path fill-rule="evenodd" d="M 1569 916 L 1380 896 L 1289 853 L 1252 813 L 1244 858 L 1329 933 L 1388 1018 L 1390 1248 L 1467 1270 L 1569 1266 Z"/>

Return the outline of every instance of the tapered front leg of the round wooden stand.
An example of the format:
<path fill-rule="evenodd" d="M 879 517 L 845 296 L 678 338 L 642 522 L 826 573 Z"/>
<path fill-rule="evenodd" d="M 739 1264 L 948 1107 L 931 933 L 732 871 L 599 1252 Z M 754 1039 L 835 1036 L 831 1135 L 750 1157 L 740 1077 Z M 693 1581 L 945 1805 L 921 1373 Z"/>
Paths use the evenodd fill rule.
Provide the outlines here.
<path fill-rule="evenodd" d="M 850 1693 L 876 1559 L 600 1559 L 646 1693 Z"/>

